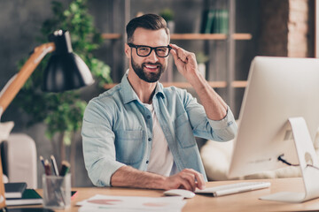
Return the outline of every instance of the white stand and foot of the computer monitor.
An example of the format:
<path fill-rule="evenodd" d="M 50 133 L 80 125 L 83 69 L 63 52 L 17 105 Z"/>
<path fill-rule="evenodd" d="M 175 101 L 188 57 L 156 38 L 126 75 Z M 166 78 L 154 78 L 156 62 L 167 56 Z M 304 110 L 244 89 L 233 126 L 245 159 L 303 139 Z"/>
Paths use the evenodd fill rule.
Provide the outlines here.
<path fill-rule="evenodd" d="M 303 202 L 319 197 L 319 162 L 317 155 L 315 155 L 314 144 L 311 141 L 306 121 L 303 117 L 292 117 L 289 118 L 288 121 L 292 126 L 292 134 L 300 162 L 305 193 L 273 193 L 262 196 L 260 200 Z M 317 169 L 308 164 L 313 165 Z"/>

